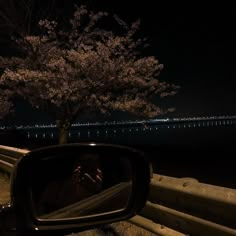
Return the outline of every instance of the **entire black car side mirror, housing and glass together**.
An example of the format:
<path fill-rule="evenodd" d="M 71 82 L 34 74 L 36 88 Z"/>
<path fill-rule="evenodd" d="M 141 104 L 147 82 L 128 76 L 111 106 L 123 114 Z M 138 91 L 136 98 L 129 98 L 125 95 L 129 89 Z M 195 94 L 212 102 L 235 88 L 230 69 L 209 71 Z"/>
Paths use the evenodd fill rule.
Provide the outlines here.
<path fill-rule="evenodd" d="M 16 164 L 11 184 L 17 231 L 81 231 L 124 220 L 145 205 L 149 162 L 104 144 L 38 149 Z"/>

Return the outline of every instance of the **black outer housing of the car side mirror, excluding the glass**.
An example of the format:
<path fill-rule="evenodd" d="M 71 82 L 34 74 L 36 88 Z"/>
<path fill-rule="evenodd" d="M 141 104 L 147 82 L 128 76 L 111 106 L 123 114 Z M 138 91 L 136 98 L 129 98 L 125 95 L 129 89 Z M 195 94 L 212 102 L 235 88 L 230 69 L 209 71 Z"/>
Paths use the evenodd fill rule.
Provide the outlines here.
<path fill-rule="evenodd" d="M 94 217 L 81 217 L 80 219 L 67 220 L 39 220 L 34 217 L 33 208 L 30 204 L 28 181 L 30 177 L 30 166 L 39 158 L 45 158 L 62 152 L 99 151 L 125 154 L 131 161 L 134 178 L 130 202 L 123 211 L 108 213 Z M 111 156 L 112 158 L 112 156 Z M 115 221 L 125 220 L 136 215 L 145 205 L 150 182 L 150 165 L 145 155 L 133 148 L 118 145 L 95 144 L 95 143 L 73 143 L 41 148 L 24 155 L 16 164 L 11 182 L 11 199 L 16 215 L 16 230 L 20 231 L 48 231 L 60 233 L 71 233 L 108 224 Z"/>

